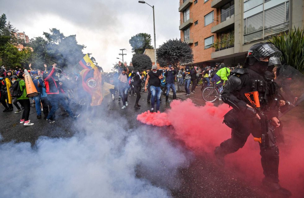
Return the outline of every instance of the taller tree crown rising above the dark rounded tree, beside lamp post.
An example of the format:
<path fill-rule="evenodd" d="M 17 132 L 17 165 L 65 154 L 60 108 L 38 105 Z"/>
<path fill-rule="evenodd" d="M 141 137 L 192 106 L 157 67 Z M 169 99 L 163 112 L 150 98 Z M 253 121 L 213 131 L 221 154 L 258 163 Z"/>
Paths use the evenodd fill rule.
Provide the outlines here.
<path fill-rule="evenodd" d="M 151 35 L 147 33 L 139 33 L 135 36 L 132 36 L 129 40 L 129 43 L 132 47 L 132 52 L 135 54 L 143 54 L 145 49 L 154 49 L 151 46 Z"/>

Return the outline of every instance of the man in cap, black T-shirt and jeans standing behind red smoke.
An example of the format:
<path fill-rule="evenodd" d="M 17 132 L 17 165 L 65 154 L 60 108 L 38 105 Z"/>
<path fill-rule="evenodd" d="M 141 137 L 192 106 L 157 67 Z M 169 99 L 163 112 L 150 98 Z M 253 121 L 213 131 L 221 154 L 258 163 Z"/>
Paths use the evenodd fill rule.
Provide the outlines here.
<path fill-rule="evenodd" d="M 160 70 L 157 70 L 157 66 L 153 65 L 152 70 L 148 72 L 147 79 L 145 82 L 145 91 L 147 91 L 147 85 L 149 83 L 151 90 L 151 110 L 150 112 L 154 112 L 154 103 L 156 97 L 156 112 L 159 111 L 159 100 L 162 94 L 162 90 L 160 88 L 160 79 L 163 79 L 163 74 Z"/>

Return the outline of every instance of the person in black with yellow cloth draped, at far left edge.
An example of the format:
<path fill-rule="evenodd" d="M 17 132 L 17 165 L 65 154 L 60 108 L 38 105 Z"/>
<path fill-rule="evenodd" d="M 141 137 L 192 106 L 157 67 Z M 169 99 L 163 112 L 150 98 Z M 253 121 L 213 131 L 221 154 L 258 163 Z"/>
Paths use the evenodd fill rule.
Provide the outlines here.
<path fill-rule="evenodd" d="M 0 74 L 0 86 L 0 101 L 5 108 L 3 112 L 12 111 L 13 104 L 10 94 L 11 81 L 10 79 L 5 78 L 5 75 L 3 73 Z M 6 103 L 8 103 L 8 106 Z"/>

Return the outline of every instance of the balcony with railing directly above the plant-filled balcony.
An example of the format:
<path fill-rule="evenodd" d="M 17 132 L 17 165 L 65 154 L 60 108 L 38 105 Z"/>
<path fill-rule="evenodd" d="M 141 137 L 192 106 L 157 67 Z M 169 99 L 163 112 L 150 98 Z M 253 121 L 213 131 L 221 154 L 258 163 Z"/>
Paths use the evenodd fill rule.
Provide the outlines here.
<path fill-rule="evenodd" d="M 211 33 L 219 33 L 234 27 L 234 8 L 213 19 Z"/>

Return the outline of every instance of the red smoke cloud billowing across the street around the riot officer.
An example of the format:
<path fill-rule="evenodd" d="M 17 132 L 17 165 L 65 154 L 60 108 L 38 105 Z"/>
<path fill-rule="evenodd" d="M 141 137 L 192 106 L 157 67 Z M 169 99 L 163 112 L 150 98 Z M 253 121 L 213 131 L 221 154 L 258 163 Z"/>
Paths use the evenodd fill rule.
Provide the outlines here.
<path fill-rule="evenodd" d="M 165 113 L 144 112 L 137 120 L 155 126 L 174 127 L 176 138 L 185 142 L 186 146 L 197 153 L 210 153 L 221 142 L 230 138 L 231 129 L 223 124 L 223 116 L 231 109 L 227 104 L 218 107 L 213 103 L 205 106 L 195 106 L 190 99 L 174 100 L 171 109 Z M 296 107 L 297 108 L 297 107 Z M 291 121 L 290 121 L 291 122 Z M 283 187 L 292 191 L 293 197 L 304 195 L 304 134 L 303 125 L 288 123 L 284 127 L 285 145 L 279 145 L 280 165 L 279 179 Z M 236 169 L 246 180 L 260 182 L 263 175 L 260 148 L 250 135 L 245 146 L 239 151 L 225 157 L 226 168 Z"/>

